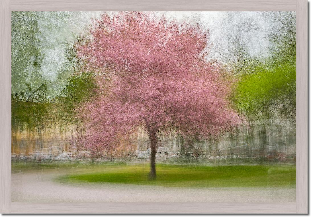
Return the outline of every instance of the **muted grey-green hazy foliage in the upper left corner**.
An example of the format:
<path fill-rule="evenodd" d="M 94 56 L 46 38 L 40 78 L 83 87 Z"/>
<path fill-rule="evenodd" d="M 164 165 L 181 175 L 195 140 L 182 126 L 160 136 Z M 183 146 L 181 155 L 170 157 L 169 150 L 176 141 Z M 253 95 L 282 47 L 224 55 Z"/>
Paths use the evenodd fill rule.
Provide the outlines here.
<path fill-rule="evenodd" d="M 36 12 L 12 12 L 12 93 L 43 82 L 40 37 Z"/>

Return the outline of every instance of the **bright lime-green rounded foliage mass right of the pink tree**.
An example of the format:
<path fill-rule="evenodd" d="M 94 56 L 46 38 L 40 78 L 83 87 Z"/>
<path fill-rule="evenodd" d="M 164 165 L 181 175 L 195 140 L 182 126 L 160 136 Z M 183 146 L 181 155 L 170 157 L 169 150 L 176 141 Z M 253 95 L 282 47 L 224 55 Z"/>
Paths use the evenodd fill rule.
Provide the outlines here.
<path fill-rule="evenodd" d="M 296 65 L 284 62 L 271 68 L 256 67 L 255 73 L 242 76 L 237 83 L 234 104 L 248 116 L 269 115 L 271 109 L 295 115 Z"/>

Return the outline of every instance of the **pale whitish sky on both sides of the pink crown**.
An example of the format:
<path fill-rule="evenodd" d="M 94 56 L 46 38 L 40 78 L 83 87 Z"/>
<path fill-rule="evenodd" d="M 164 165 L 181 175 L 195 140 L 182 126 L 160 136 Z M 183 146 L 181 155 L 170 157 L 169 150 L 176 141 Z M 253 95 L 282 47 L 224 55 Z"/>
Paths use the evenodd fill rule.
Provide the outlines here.
<path fill-rule="evenodd" d="M 92 18 L 98 18 L 101 12 L 60 12 L 68 15 L 59 21 L 50 16 L 50 12 L 39 12 L 44 19 L 39 21 L 39 28 L 45 39 L 42 52 L 45 55 L 42 63 L 43 75 L 55 78 L 57 70 L 66 64 L 64 58 L 65 43 L 73 42 L 74 36 L 86 32 Z M 177 20 L 199 20 L 210 31 L 210 58 L 230 53 L 228 37 L 238 35 L 251 55 L 265 56 L 269 46 L 268 34 L 278 25 L 273 19 L 262 16 L 262 12 L 159 12 Z M 49 17 L 51 19 L 49 19 Z M 249 21 L 252 26 L 245 27 Z M 51 27 L 51 23 L 53 24 Z M 242 26 L 241 26 L 242 25 Z M 58 28 L 53 28 L 53 26 Z"/>

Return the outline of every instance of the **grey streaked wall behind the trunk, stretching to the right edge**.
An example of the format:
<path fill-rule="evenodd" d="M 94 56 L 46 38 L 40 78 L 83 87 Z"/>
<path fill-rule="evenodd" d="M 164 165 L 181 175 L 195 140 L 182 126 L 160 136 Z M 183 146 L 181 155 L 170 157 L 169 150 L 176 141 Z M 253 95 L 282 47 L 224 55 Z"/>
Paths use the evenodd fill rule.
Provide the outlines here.
<path fill-rule="evenodd" d="M 266 122 L 257 122 L 252 126 L 240 126 L 233 133 L 225 133 L 217 140 L 208 138 L 191 139 L 190 146 L 211 155 L 219 155 L 219 150 L 225 149 L 234 143 L 246 143 L 251 147 L 262 144 L 276 143 L 280 147 L 285 146 L 288 154 L 296 151 L 296 127 L 290 120 L 274 119 Z M 148 135 L 140 129 L 137 138 L 137 150 L 146 150 L 149 147 Z M 161 135 L 158 141 L 159 147 L 168 147 L 171 152 L 179 152 L 186 146 L 187 151 L 193 151 L 189 146 L 189 141 L 171 132 L 169 135 Z M 218 150 L 218 153 L 217 153 Z"/>

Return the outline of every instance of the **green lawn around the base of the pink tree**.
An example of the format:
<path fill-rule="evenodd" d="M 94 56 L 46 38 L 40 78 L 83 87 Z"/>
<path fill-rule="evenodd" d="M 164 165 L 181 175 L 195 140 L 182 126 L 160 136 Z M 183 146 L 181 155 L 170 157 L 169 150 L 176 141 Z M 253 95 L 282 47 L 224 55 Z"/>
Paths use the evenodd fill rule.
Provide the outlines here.
<path fill-rule="evenodd" d="M 149 165 L 105 165 L 59 177 L 59 182 L 110 182 L 170 187 L 295 187 L 296 167 L 192 166 L 157 164 L 156 180 L 148 180 Z"/>

